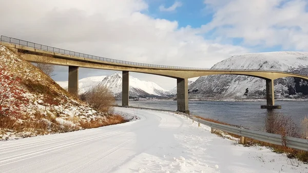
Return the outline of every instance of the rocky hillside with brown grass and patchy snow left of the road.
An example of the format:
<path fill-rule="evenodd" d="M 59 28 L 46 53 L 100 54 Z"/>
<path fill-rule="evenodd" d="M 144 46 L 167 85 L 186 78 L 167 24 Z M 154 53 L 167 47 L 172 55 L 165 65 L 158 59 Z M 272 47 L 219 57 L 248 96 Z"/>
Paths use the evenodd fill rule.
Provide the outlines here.
<path fill-rule="evenodd" d="M 117 123 L 0 45 L 0 140 Z"/>

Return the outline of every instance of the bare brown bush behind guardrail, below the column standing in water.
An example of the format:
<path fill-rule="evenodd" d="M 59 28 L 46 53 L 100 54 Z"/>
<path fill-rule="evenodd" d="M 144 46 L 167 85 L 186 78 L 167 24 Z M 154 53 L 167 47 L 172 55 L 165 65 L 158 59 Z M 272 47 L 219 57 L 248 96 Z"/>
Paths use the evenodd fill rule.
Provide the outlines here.
<path fill-rule="evenodd" d="M 269 113 L 265 120 L 265 131 L 288 137 L 299 137 L 299 130 L 291 117 L 280 113 Z"/>

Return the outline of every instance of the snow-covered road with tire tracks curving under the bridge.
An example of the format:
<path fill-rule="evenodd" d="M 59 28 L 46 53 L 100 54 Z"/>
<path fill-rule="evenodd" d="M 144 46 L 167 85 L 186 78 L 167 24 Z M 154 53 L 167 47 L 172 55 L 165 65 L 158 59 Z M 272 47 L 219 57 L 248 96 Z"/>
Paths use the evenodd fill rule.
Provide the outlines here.
<path fill-rule="evenodd" d="M 308 172 L 308 165 L 236 145 L 180 115 L 115 109 L 141 119 L 0 142 L 0 172 Z"/>

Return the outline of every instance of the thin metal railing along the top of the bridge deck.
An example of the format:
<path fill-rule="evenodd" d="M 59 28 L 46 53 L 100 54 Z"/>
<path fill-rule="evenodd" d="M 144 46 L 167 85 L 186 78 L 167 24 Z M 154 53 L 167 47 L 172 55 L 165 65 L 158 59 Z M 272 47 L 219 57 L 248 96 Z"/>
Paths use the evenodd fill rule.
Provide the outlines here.
<path fill-rule="evenodd" d="M 10 43 L 10 44 L 15 44 L 15 45 L 31 47 L 31 48 L 34 48 L 34 49 L 45 50 L 45 51 L 49 51 L 49 52 L 55 52 L 55 53 L 61 53 L 61 54 L 66 54 L 66 55 L 83 57 L 83 58 L 92 59 L 92 60 L 99 60 L 99 61 L 111 62 L 111 63 L 119 63 L 119 64 L 125 64 L 125 65 L 143 66 L 143 67 L 166 68 L 166 69 L 184 69 L 184 70 L 224 70 L 224 71 L 227 70 L 227 71 L 282 72 L 282 71 L 277 71 L 277 70 L 262 70 L 262 69 L 198 68 L 198 67 L 178 67 L 178 66 L 164 66 L 164 65 L 155 65 L 155 64 L 145 64 L 145 63 L 136 63 L 136 62 L 109 59 L 107 57 L 101 57 L 101 56 L 94 56 L 94 55 L 90 55 L 90 54 L 86 54 L 86 53 L 80 53 L 80 52 L 60 49 L 60 48 L 56 48 L 56 47 L 46 46 L 46 45 L 42 45 L 42 44 L 37 44 L 37 43 L 33 43 L 33 42 L 28 42 L 28 41 L 24 41 L 24 40 L 20 40 L 20 39 L 15 39 L 13 37 L 8 37 L 8 36 L 4 36 L 4 35 L 1 35 L 0 41 L 1 42 L 7 42 L 7 43 Z"/>

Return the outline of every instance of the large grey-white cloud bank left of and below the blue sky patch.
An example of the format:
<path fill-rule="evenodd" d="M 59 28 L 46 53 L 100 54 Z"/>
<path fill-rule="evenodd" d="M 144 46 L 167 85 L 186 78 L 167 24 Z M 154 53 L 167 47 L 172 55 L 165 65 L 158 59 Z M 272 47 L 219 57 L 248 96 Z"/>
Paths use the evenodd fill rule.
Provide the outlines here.
<path fill-rule="evenodd" d="M 148 5 L 141 0 L 73 2 L 0 0 L 0 33 L 112 59 L 172 66 L 209 68 L 247 52 L 205 40 L 200 29 L 179 28 L 176 21 L 143 14 Z M 167 89 L 176 85 L 143 76 Z"/>

